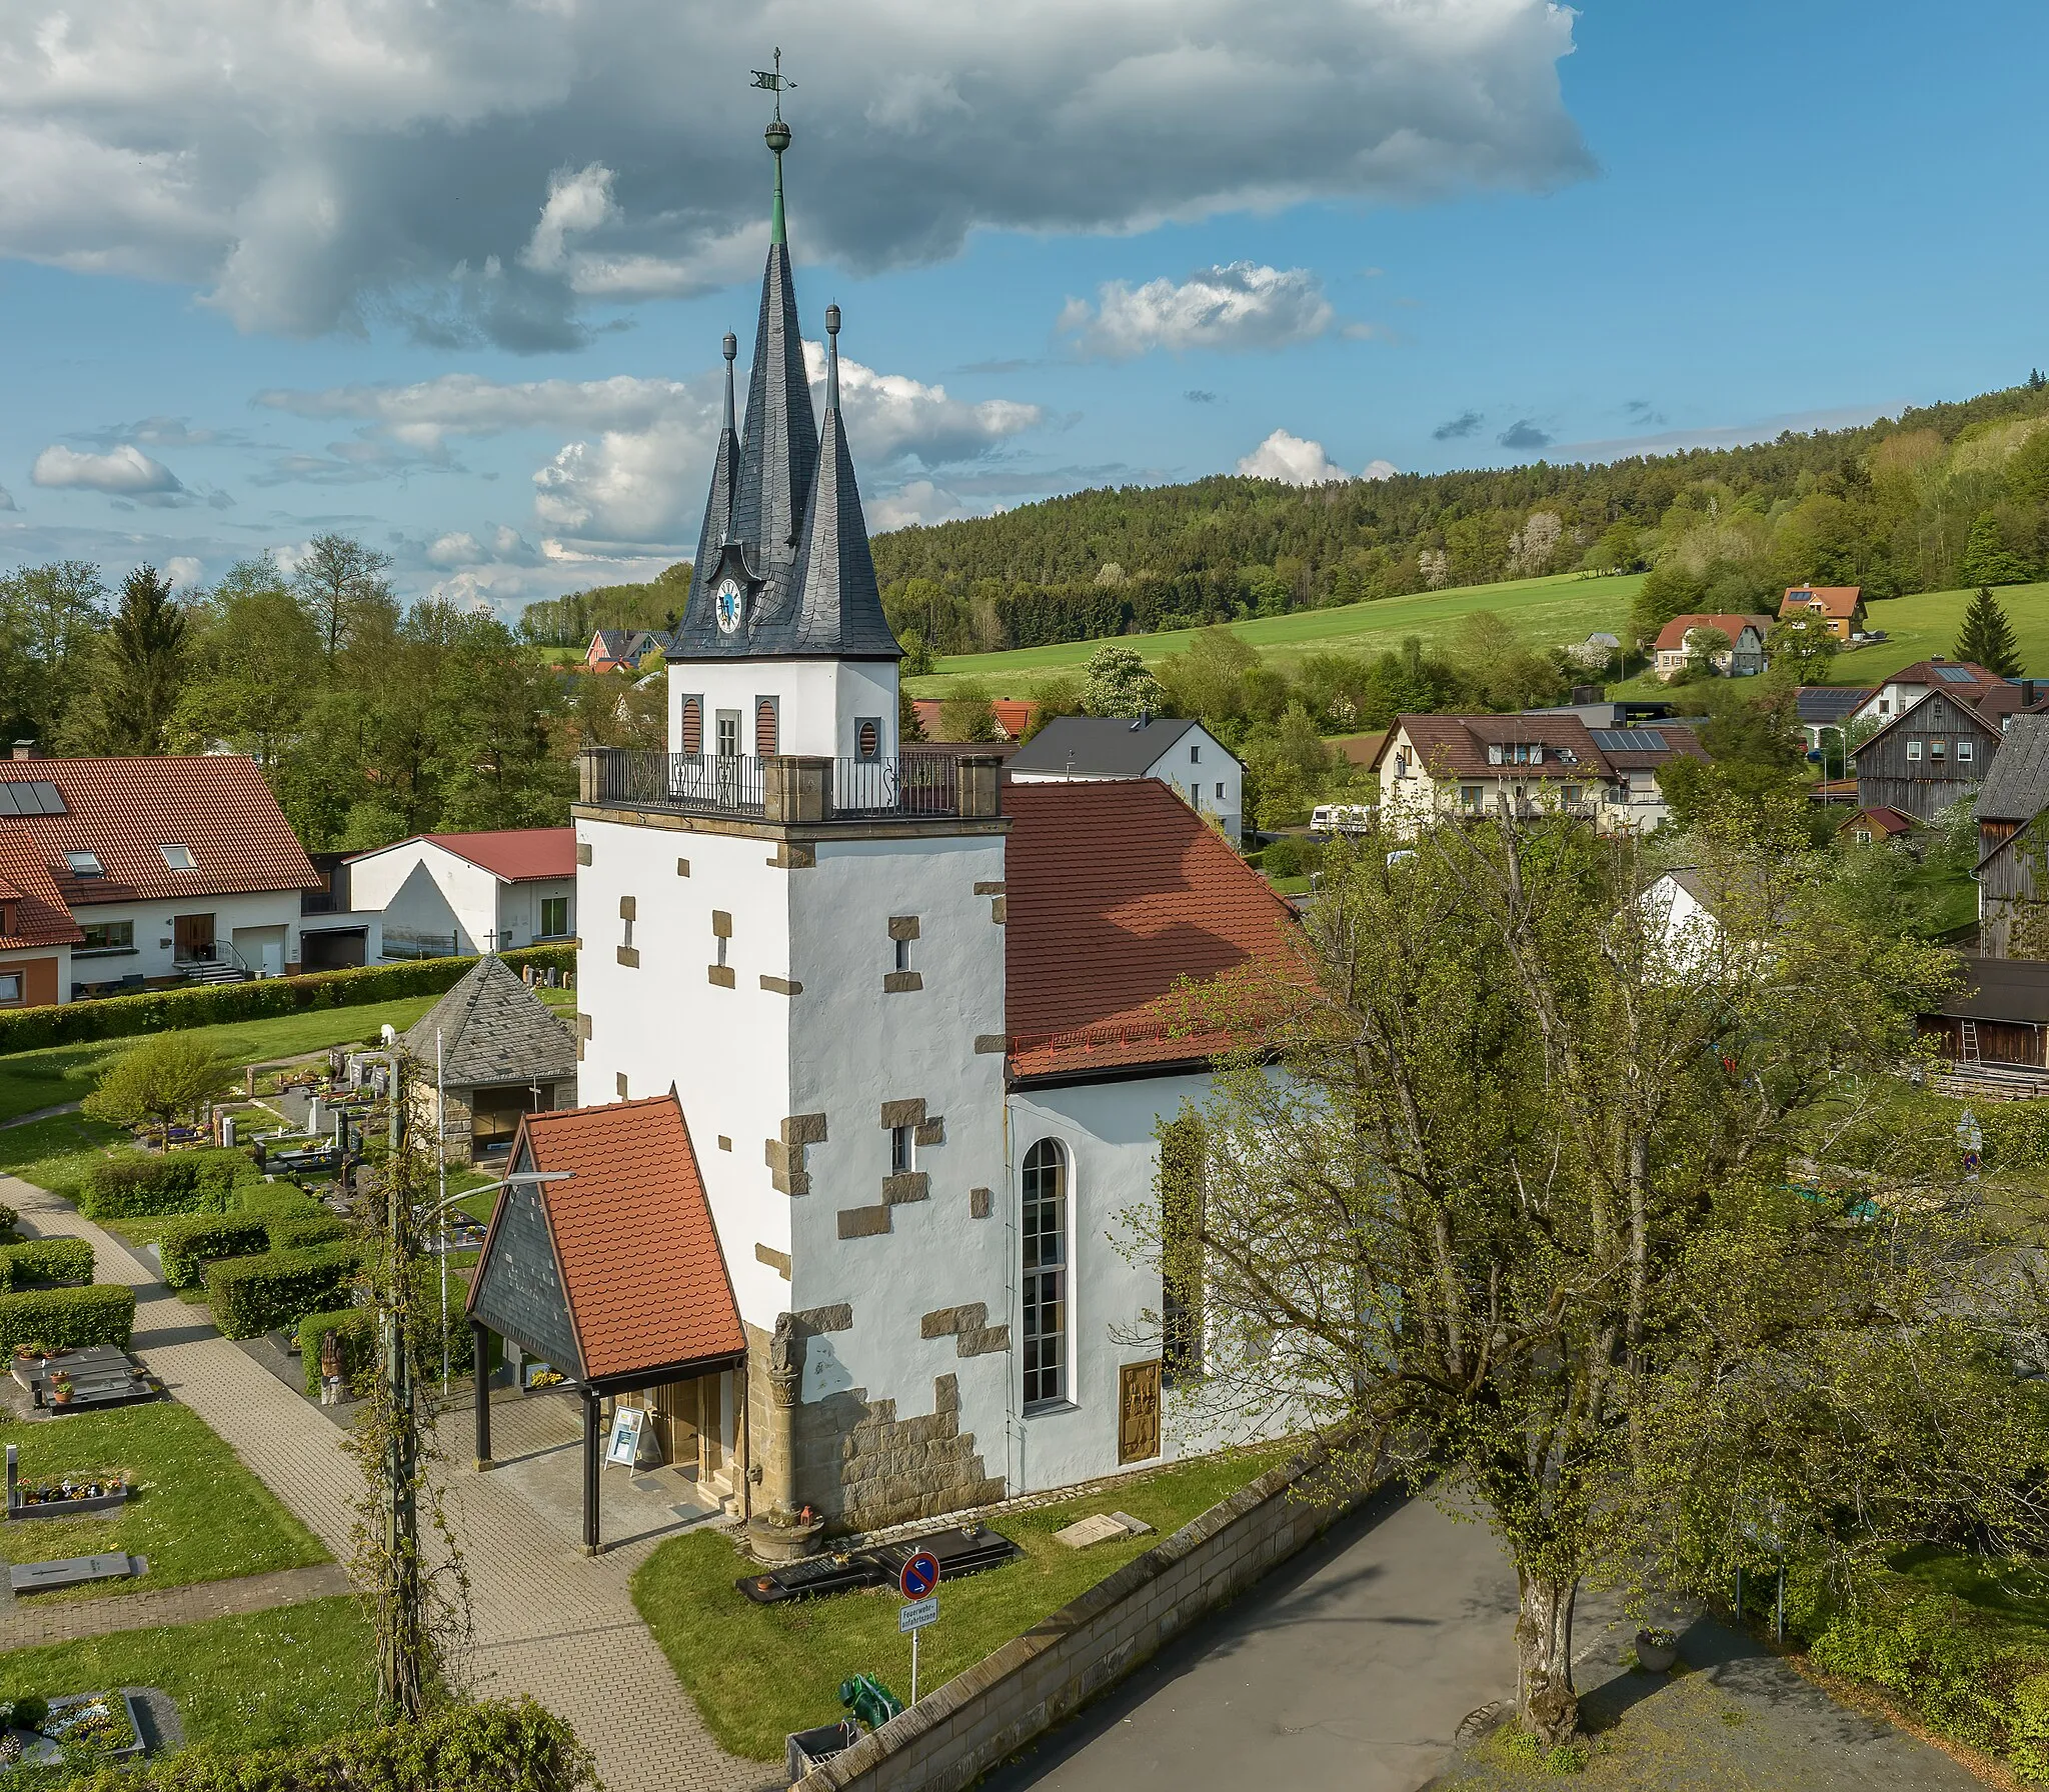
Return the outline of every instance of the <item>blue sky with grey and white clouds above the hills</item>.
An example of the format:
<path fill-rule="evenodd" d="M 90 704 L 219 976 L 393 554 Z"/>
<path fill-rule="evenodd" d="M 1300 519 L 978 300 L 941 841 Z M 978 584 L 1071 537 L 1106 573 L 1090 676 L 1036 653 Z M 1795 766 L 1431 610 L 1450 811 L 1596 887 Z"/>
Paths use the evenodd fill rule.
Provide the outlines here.
<path fill-rule="evenodd" d="M 516 614 L 686 555 L 777 37 L 873 526 L 1729 440 L 2049 365 L 2039 6 L 598 10 L 0 20 L 0 569 L 197 582 L 344 528 Z"/>

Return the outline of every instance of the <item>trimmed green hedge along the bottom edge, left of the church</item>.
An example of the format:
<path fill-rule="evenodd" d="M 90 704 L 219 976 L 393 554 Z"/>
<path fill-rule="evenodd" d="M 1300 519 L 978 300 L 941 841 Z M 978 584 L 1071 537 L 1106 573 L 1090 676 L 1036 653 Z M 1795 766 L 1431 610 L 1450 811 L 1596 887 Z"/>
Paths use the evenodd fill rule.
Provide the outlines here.
<path fill-rule="evenodd" d="M 303 1749 L 195 1743 L 100 1767 L 68 1792 L 594 1792 L 590 1751 L 531 1698 L 486 1700 L 418 1724 L 350 1731 Z"/>

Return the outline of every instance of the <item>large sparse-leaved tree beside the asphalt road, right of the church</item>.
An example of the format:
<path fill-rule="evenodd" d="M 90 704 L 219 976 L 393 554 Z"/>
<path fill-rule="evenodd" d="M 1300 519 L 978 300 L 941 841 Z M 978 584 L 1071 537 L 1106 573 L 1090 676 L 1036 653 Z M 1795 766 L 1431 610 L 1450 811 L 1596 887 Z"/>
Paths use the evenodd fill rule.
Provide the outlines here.
<path fill-rule="evenodd" d="M 1549 1747 L 1588 1579 L 1725 1585 L 1770 1530 L 1844 1561 L 2031 1538 L 2002 1341 L 2033 1315 L 2000 1221 L 1945 1194 L 1953 1114 L 1895 1116 L 1947 958 L 1770 854 L 1717 860 L 1719 926 L 1674 940 L 1631 842 L 1502 817 L 1414 846 L 1334 848 L 1297 973 L 1188 999 L 1242 1049 L 1201 1202 L 1129 1214 L 1203 1313 L 1178 1417 L 1301 1413 L 1477 1503 Z"/>

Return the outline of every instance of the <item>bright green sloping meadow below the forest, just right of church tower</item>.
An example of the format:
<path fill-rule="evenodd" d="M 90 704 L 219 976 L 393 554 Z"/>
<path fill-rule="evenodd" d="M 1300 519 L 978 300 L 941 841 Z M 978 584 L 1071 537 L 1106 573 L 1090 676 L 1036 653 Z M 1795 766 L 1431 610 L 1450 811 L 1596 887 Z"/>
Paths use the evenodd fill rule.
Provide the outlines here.
<path fill-rule="evenodd" d="M 1371 604 L 1342 604 L 1334 610 L 1297 610 L 1289 616 L 1260 616 L 1231 623 L 1231 633 L 1258 647 L 1268 659 L 1291 662 L 1303 653 L 1381 653 L 1410 635 L 1424 643 L 1445 641 L 1459 618 L 1473 610 L 1508 616 L 1533 647 L 1561 647 L 1584 641 L 1596 629 L 1615 631 L 1629 614 L 1641 584 L 1639 573 L 1584 578 L 1565 573 L 1549 580 L 1508 580 L 1496 586 L 1459 586 L 1449 592 L 1416 592 L 1379 598 Z M 1137 647 L 1147 664 L 1180 653 L 1193 631 L 1166 635 L 1123 635 L 1121 647 Z M 1027 694 L 1035 678 L 1078 672 L 1102 641 L 1061 641 L 1053 647 L 1020 647 L 1014 653 L 959 653 L 938 662 L 928 678 L 908 678 L 914 696 L 945 696 L 963 678 L 988 682 L 992 694 Z"/>

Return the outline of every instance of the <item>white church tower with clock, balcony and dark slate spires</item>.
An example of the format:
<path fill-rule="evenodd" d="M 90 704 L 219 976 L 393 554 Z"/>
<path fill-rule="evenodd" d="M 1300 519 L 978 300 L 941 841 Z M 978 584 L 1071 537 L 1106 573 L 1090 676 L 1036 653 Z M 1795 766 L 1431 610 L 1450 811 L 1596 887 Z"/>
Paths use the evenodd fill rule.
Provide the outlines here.
<path fill-rule="evenodd" d="M 748 1331 L 746 1368 L 676 1397 L 715 1440 L 707 1460 L 756 1516 L 869 1528 L 1004 1489 L 1008 1327 L 959 1315 L 1010 1307 L 992 1196 L 1010 1182 L 1008 823 L 994 760 L 900 750 L 840 311 L 820 420 L 781 115 L 766 141 L 746 418 L 727 336 L 668 752 L 580 768 L 580 1098 L 674 1085 L 688 1120 Z"/>

